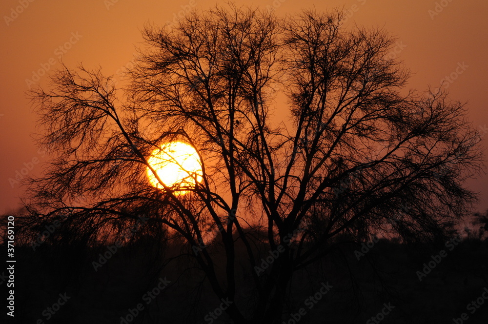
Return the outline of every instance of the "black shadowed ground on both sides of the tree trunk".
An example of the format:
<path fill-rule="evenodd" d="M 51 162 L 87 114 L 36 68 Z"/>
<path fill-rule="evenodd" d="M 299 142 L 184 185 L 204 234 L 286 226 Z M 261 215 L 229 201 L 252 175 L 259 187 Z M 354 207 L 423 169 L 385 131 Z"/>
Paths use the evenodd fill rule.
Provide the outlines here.
<path fill-rule="evenodd" d="M 1 246 L 3 255 L 5 248 Z M 488 300 L 482 298 L 488 287 L 488 241 L 466 240 L 449 250 L 446 246 L 407 246 L 381 240 L 358 261 L 354 251 L 360 248 L 340 243 L 321 264 L 297 272 L 283 322 L 295 323 L 293 318 L 297 319 L 296 314 L 303 308 L 305 315 L 299 321 L 303 324 L 375 323 L 367 321 L 381 312 L 384 304 L 390 304 L 394 308 L 378 316 L 384 317 L 381 323 L 451 324 L 463 313 L 468 320 L 458 320 L 458 324 L 488 323 Z M 422 271 L 423 264 L 442 249 L 447 256 L 419 281 L 417 271 Z M 73 244 L 55 250 L 48 242 L 35 252 L 30 246 L 16 247 L 15 323 L 119 324 L 124 323 L 121 316 L 130 319 L 127 316 L 131 310 L 136 312 L 137 304 L 142 310 L 137 310 L 129 323 L 210 323 L 205 316 L 218 307 L 220 300 L 207 284 L 198 284 L 202 278 L 198 270 L 185 272 L 187 265 L 182 262 L 163 266 L 172 250 L 176 248 L 169 247 L 163 253 L 157 243 L 147 240 L 120 248 L 95 271 L 92 262 L 107 247 L 94 250 Z M 237 260 L 243 278 L 238 291 L 249 296 L 249 273 L 241 271 L 245 262 L 241 266 Z M 171 284 L 154 299 L 144 295 L 157 286 L 160 278 Z M 332 288 L 309 308 L 307 298 L 326 282 Z M 6 282 L 1 286 L 5 292 Z M 49 314 L 47 307 L 53 307 L 64 293 L 69 297 L 67 302 Z M 200 302 L 195 302 L 196 296 L 201 297 Z M 488 293 L 485 296 L 488 298 Z M 479 308 L 467 308 L 480 297 L 483 304 Z M 238 303 L 241 308 L 246 305 L 243 299 Z M 213 323 L 230 322 L 222 315 Z"/>

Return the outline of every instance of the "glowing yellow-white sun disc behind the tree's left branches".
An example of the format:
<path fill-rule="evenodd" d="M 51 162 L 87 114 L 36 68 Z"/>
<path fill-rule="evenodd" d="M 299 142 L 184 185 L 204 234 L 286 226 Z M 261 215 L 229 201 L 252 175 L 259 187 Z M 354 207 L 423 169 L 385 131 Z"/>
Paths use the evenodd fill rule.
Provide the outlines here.
<path fill-rule="evenodd" d="M 202 164 L 195 148 L 183 142 L 168 142 L 155 149 L 149 159 L 149 165 L 156 171 L 161 181 L 176 189 L 176 194 L 186 194 L 184 189 L 194 188 L 196 182 L 202 182 Z M 146 168 L 149 182 L 156 188 L 163 188 L 149 167 Z"/>

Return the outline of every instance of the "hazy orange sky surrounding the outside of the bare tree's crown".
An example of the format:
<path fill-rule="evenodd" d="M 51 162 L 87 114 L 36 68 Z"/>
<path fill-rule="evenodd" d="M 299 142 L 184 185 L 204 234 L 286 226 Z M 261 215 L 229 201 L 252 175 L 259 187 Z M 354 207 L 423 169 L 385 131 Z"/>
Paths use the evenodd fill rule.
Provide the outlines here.
<path fill-rule="evenodd" d="M 16 174 L 41 173 L 43 153 L 32 133 L 36 116 L 25 92 L 46 85 L 49 72 L 80 62 L 89 69 L 102 67 L 114 75 L 130 64 L 142 41 L 144 23 L 163 24 L 188 10 L 209 8 L 216 1 L 172 0 L 3 0 L 1 25 L 0 106 L 0 213 L 18 207 L 22 188 Z M 398 58 L 412 72 L 410 87 L 436 88 L 446 76 L 450 97 L 468 102 L 469 117 L 480 132 L 488 133 L 488 1 L 486 0 L 262 0 L 235 1 L 260 5 L 278 16 L 302 8 L 349 10 L 349 22 L 380 26 L 398 37 Z M 450 77 L 449 77 L 450 78 Z M 447 87 L 446 85 L 446 87 Z M 486 148 L 488 134 L 483 137 Z M 22 170 L 23 169 L 23 170 Z M 468 182 L 481 193 L 475 210 L 488 208 L 487 176 Z"/>

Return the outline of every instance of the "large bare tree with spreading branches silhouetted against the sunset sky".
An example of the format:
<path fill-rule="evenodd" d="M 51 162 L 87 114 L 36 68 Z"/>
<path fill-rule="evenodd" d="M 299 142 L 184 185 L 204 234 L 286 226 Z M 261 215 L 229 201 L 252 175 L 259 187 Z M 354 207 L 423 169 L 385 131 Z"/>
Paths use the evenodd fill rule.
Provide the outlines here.
<path fill-rule="evenodd" d="M 463 181 L 481 166 L 466 108 L 445 93 L 407 91 L 408 71 L 388 55 L 395 40 L 346 29 L 343 17 L 278 19 L 231 6 L 171 30 L 147 27 L 120 101 L 100 70 L 58 71 L 49 91 L 33 93 L 52 157 L 31 183 L 37 219 L 84 195 L 66 222 L 89 224 L 96 241 L 121 235 L 143 211 L 182 239 L 213 292 L 232 302 L 235 323 L 281 323 L 294 271 L 339 234 L 443 237 L 470 211 L 475 195 Z M 273 106 L 280 94 L 287 108 Z M 169 187 L 158 177 L 148 157 L 171 141 L 196 148 L 201 182 Z M 263 273 L 258 243 L 280 251 Z M 239 293 L 238 261 L 255 299 Z"/>

